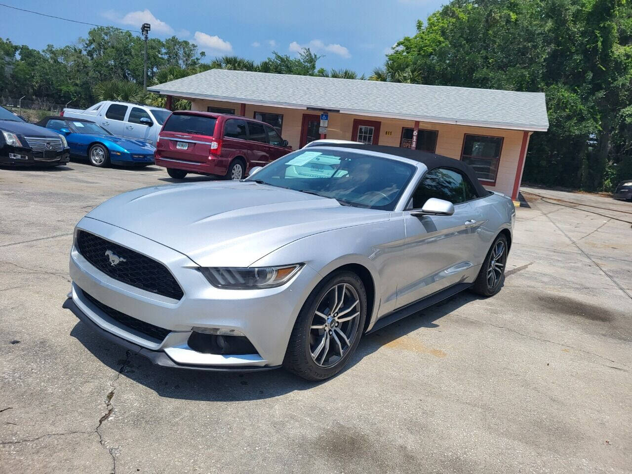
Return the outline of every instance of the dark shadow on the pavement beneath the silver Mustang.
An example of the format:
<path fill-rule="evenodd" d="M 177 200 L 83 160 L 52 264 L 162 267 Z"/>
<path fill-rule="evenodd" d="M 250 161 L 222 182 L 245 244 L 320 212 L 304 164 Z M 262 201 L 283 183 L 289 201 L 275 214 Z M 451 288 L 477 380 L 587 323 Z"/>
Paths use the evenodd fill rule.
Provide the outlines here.
<path fill-rule="evenodd" d="M 464 291 L 441 303 L 394 322 L 379 331 L 365 335 L 351 357 L 345 372 L 362 358 L 378 351 L 385 344 L 421 327 L 439 327 L 436 321 L 481 296 Z M 322 382 L 308 382 L 283 369 L 245 374 L 202 372 L 153 365 L 143 356 L 126 358 L 126 349 L 112 345 L 78 322 L 70 335 L 112 370 L 121 371 L 131 380 L 155 391 L 159 396 L 199 401 L 246 401 L 274 398 L 296 390 L 306 390 Z"/>

